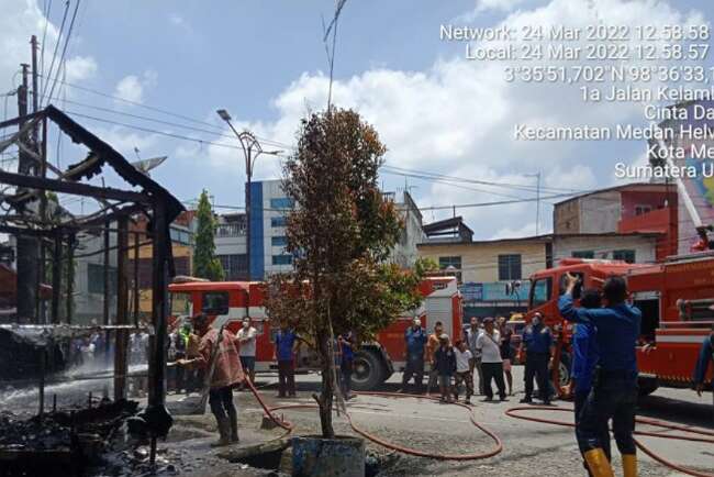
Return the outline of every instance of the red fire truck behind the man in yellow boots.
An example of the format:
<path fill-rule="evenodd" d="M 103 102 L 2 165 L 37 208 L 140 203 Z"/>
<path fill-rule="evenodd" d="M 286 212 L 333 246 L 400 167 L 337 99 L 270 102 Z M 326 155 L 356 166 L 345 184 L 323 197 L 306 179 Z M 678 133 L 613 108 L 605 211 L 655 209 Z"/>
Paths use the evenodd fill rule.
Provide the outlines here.
<path fill-rule="evenodd" d="M 567 273 L 581 278 L 574 298 L 583 287 L 602 286 L 609 276 L 626 277 L 631 301 L 643 312 L 637 346 L 640 393 L 650 393 L 658 386 L 691 386 L 700 346 L 714 322 L 714 252 L 654 265 L 566 258 L 558 267 L 533 275 L 526 321 L 539 311 L 546 323 L 558 330 L 560 366 L 554 370 L 554 378 L 560 385 L 569 379 L 572 333 L 572 324 L 558 311 Z M 707 380 L 712 380 L 712 371 Z"/>

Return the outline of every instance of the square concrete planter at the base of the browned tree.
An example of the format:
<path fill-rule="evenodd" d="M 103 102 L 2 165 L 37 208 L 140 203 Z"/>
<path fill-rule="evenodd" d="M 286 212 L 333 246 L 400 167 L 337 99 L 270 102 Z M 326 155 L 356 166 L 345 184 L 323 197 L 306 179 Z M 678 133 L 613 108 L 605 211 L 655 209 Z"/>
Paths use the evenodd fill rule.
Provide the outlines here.
<path fill-rule="evenodd" d="M 292 475 L 297 477 L 364 477 L 365 441 L 353 436 L 292 439 Z"/>

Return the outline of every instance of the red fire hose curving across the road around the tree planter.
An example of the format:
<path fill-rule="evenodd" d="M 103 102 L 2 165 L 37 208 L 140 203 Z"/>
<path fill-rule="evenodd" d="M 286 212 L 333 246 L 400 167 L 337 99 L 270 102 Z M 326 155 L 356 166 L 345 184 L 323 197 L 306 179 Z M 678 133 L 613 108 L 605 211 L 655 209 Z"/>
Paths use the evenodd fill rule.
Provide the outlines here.
<path fill-rule="evenodd" d="M 253 382 L 250 382 L 249 380 L 246 380 L 246 382 L 248 384 L 248 387 L 253 391 L 253 395 L 258 400 L 258 402 L 260 403 L 260 407 L 263 408 L 265 413 L 270 418 L 270 420 L 272 420 L 272 422 L 275 422 L 280 428 L 288 431 L 286 433 L 286 435 L 290 434 L 293 431 L 294 425 L 292 423 L 290 423 L 289 421 L 286 421 L 285 419 L 276 417 L 275 413 L 274 413 L 275 411 L 278 411 L 278 410 L 281 410 L 281 409 L 317 409 L 316 404 L 286 404 L 286 406 L 277 406 L 277 407 L 274 407 L 274 408 L 268 408 L 266 406 L 266 403 L 263 401 L 263 398 L 260 397 L 260 395 L 258 393 L 256 388 L 253 386 Z M 358 395 L 361 395 L 361 396 L 378 396 L 378 397 L 384 397 L 384 398 L 416 398 L 416 399 L 431 399 L 431 400 L 434 400 L 434 401 L 438 400 L 436 398 L 432 398 L 432 397 L 428 397 L 428 396 L 403 395 L 403 393 L 398 393 L 398 392 L 358 392 Z M 476 418 L 473 417 L 473 411 L 469 406 L 462 404 L 460 402 L 457 402 L 456 406 L 458 406 L 460 408 L 464 408 L 464 409 L 467 409 L 469 411 L 469 420 L 471 421 L 471 424 L 473 424 L 481 432 L 483 432 L 486 435 L 491 437 L 491 440 L 493 440 L 493 442 L 495 443 L 495 446 L 492 450 L 490 450 L 488 452 L 483 452 L 483 453 L 473 453 L 473 454 L 437 454 L 437 453 L 423 452 L 423 451 L 419 451 L 419 450 L 415 450 L 415 448 L 401 446 L 401 445 L 394 444 L 392 442 L 389 442 L 389 441 L 387 441 L 384 439 L 381 439 L 381 437 L 379 437 L 377 435 L 370 434 L 367 431 L 364 431 L 362 429 L 358 428 L 353 422 L 352 417 L 349 415 L 349 413 L 346 412 L 345 415 L 347 417 L 347 422 L 349 422 L 349 425 L 353 429 L 353 431 L 355 431 L 357 434 L 361 435 L 362 437 L 365 437 L 365 439 L 367 439 L 367 440 L 369 440 L 369 441 L 371 441 L 371 442 L 373 442 L 376 444 L 379 444 L 382 447 L 387 447 L 387 448 L 390 448 L 392 451 L 397 451 L 397 452 L 400 452 L 400 453 L 403 453 L 403 454 L 414 455 L 414 456 L 417 456 L 417 457 L 428 457 L 428 458 L 435 458 L 435 459 L 439 459 L 439 461 L 477 461 L 477 459 L 481 459 L 481 458 L 492 457 L 492 456 L 499 454 L 501 451 L 503 451 L 503 443 L 501 442 L 499 436 L 495 435 L 493 432 L 489 431 L 487 428 L 484 428 L 483 425 L 479 424 L 476 421 Z"/>

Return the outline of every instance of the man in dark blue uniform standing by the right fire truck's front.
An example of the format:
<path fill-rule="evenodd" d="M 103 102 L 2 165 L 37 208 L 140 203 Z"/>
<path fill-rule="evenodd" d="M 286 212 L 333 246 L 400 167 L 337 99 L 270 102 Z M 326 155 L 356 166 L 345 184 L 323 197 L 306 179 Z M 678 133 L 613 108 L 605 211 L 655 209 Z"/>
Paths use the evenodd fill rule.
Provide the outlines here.
<path fill-rule="evenodd" d="M 550 404 L 550 378 L 548 363 L 553 353 L 553 334 L 543 324 L 543 315 L 536 312 L 531 325 L 523 332 L 525 348 L 525 397 L 521 402 L 533 402 L 533 378 L 538 382 L 538 393 L 544 404 Z"/>

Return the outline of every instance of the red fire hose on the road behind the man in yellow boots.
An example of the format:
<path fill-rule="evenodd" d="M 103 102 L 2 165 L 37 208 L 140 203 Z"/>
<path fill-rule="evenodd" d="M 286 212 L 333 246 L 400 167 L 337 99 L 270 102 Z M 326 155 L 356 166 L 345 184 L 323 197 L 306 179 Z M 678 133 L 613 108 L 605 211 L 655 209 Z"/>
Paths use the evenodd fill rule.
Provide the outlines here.
<path fill-rule="evenodd" d="M 516 412 L 518 411 L 561 411 L 561 412 L 569 412 L 572 414 L 573 410 L 572 409 L 567 409 L 567 408 L 553 408 L 553 407 L 545 407 L 545 406 L 522 406 L 522 407 L 516 407 L 516 408 L 511 408 L 505 411 L 505 414 L 510 418 L 515 418 L 515 419 L 523 419 L 525 421 L 533 421 L 533 422 L 540 422 L 545 424 L 554 424 L 554 425 L 566 425 L 570 428 L 574 428 L 574 423 L 572 422 L 566 422 L 566 421 L 556 421 L 551 419 L 545 419 L 545 418 L 535 418 L 532 415 L 522 415 L 517 414 Z M 700 430 L 700 429 L 690 429 L 685 428 L 682 425 L 676 425 L 676 424 L 669 424 L 666 422 L 652 420 L 652 419 L 647 419 L 647 418 L 637 418 L 636 422 L 639 424 L 647 424 L 647 425 L 652 425 L 657 428 L 661 428 L 667 431 L 680 431 L 680 432 L 687 432 L 690 434 L 699 434 L 699 435 L 704 435 L 704 436 L 710 436 L 714 437 L 714 432 L 711 431 L 705 431 L 705 430 Z M 645 435 L 645 436 L 650 436 L 650 437 L 661 437 L 661 439 L 672 439 L 677 441 L 691 441 L 691 442 L 704 442 L 709 444 L 714 444 L 714 439 L 706 439 L 706 437 L 694 437 L 694 436 L 687 436 L 687 435 L 676 435 L 676 434 L 662 434 L 658 432 L 645 432 L 645 431 L 635 431 L 635 435 Z M 649 457 L 651 457 L 654 461 L 662 464 L 666 467 L 669 467 L 673 470 L 680 472 L 682 474 L 688 474 L 694 477 L 714 477 L 714 474 L 710 473 L 704 473 L 704 472 L 699 472 L 699 470 L 693 470 L 687 467 L 682 467 L 678 464 L 674 464 L 665 457 L 656 454 L 652 452 L 649 447 L 647 447 L 645 444 L 643 444 L 640 441 L 635 440 L 635 444 L 637 444 L 637 447 L 647 454 Z"/>

